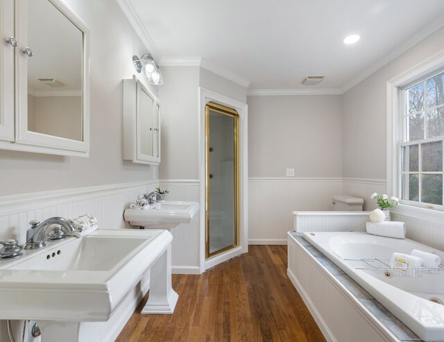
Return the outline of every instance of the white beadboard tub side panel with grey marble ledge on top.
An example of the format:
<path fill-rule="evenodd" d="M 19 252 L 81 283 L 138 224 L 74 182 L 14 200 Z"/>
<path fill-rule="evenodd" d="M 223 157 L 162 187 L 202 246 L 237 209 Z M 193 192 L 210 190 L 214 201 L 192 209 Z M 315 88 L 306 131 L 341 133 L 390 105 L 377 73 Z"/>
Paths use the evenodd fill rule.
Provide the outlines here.
<path fill-rule="evenodd" d="M 309 244 L 289 232 L 287 275 L 327 341 L 420 341 L 409 327 Z"/>

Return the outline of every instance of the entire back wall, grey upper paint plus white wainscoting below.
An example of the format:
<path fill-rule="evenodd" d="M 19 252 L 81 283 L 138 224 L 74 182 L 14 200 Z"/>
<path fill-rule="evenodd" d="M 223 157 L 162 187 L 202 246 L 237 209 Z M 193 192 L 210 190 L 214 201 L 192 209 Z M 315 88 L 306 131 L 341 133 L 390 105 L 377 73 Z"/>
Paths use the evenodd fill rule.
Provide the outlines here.
<path fill-rule="evenodd" d="M 342 193 L 341 96 L 248 96 L 248 111 L 248 240 L 285 244 L 293 210 Z"/>

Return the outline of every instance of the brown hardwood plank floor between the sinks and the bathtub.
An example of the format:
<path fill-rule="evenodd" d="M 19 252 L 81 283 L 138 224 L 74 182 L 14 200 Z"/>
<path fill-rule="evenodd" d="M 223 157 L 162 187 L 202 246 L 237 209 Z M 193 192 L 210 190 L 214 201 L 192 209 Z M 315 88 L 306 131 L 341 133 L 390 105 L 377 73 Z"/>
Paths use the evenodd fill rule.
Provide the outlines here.
<path fill-rule="evenodd" d="M 140 314 L 146 296 L 116 341 L 325 341 L 287 278 L 287 246 L 249 246 L 199 276 L 173 275 L 173 289 L 174 314 Z"/>

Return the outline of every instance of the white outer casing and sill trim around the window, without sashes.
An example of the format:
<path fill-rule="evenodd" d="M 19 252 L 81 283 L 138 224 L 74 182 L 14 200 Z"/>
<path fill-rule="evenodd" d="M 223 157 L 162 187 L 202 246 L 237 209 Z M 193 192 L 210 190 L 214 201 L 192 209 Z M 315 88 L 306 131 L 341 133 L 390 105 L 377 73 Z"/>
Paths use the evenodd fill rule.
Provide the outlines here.
<path fill-rule="evenodd" d="M 397 142 L 400 134 L 402 134 L 402 123 L 398 115 L 399 88 L 442 68 L 444 68 L 444 50 L 387 82 L 387 190 L 392 194 L 398 195 L 398 197 L 400 196 L 398 191 L 398 163 L 400 163 L 400 158 L 398 156 Z M 407 204 L 400 204 L 393 207 L 392 210 L 394 213 L 413 218 L 427 219 L 432 222 L 442 223 L 444 219 L 444 212 L 441 210 L 420 208 Z"/>

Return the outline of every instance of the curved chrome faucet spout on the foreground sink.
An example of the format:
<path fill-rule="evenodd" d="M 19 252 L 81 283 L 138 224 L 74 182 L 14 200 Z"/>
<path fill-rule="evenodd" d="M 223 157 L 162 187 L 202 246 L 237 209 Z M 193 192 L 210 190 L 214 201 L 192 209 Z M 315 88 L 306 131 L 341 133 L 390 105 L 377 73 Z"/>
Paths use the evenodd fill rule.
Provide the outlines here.
<path fill-rule="evenodd" d="M 63 217 L 50 217 L 40 223 L 37 219 L 33 219 L 31 222 L 31 228 L 26 231 L 26 246 L 25 249 L 40 249 L 46 246 L 44 243 L 44 234 L 46 228 L 53 224 L 59 224 L 61 228 L 56 228 L 56 234 L 58 237 L 55 240 L 62 240 L 67 234 L 76 232 L 71 221 Z"/>

